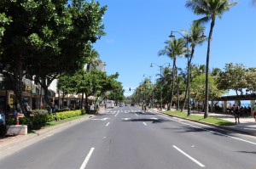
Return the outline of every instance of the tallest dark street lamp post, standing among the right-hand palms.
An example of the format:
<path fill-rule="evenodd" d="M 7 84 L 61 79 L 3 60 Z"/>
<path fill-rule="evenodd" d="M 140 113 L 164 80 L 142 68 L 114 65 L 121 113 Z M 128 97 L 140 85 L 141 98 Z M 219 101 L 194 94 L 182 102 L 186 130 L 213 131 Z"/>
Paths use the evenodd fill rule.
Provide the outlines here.
<path fill-rule="evenodd" d="M 183 34 L 179 31 L 171 31 L 171 35 L 169 37 L 175 38 L 174 35 L 172 35 L 173 32 L 177 32 L 178 34 L 180 34 L 184 39 L 186 39 L 186 48 L 187 48 L 187 58 L 188 58 L 188 115 L 191 115 L 191 104 L 190 104 L 190 82 L 189 82 L 189 71 L 190 71 L 190 63 L 189 63 L 189 35 L 187 34 L 186 36 L 183 36 Z"/>

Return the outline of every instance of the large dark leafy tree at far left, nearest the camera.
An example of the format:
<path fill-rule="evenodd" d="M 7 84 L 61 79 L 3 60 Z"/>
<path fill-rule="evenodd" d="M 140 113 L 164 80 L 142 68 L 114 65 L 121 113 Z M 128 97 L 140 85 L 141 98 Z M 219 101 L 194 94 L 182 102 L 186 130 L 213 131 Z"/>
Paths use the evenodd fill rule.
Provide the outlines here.
<path fill-rule="evenodd" d="M 0 11 L 5 11 L 6 18 L 12 20 L 9 25 L 4 26 L 1 41 L 2 73 L 9 76 L 15 84 L 15 96 L 26 116 L 22 77 L 24 73 L 27 74 L 27 67 L 41 54 L 53 55 L 60 52 L 58 41 L 64 38 L 61 31 L 68 30 L 70 26 L 66 3 L 67 1 L 61 0 L 3 0 L 0 3 Z M 48 61 L 51 62 L 50 59 Z"/>

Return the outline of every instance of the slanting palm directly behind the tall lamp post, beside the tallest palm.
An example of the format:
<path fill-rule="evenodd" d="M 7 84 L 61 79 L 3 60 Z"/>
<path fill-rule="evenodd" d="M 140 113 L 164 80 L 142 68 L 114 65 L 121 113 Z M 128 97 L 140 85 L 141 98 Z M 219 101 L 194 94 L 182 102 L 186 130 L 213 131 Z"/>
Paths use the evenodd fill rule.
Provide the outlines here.
<path fill-rule="evenodd" d="M 192 61 L 194 53 L 195 53 L 195 46 L 198 45 L 198 44 L 201 45 L 203 42 L 206 41 L 206 38 L 204 36 L 202 36 L 204 31 L 205 31 L 205 27 L 201 24 L 195 24 L 195 22 L 191 25 L 191 27 L 189 29 L 189 32 L 183 31 L 183 33 L 186 35 L 186 37 L 188 37 L 188 40 L 189 40 L 189 43 L 190 43 L 190 48 L 191 48 L 191 50 L 189 51 L 190 54 L 189 54 L 189 56 L 187 56 L 187 57 L 189 57 L 189 59 L 188 59 L 188 69 L 190 68 L 189 65 L 191 65 L 191 61 Z M 190 72 L 190 70 L 189 70 L 189 72 Z M 189 77 L 190 77 L 190 75 L 189 75 Z M 189 79 L 190 78 L 187 77 L 187 86 L 186 86 L 186 92 L 185 92 L 185 97 L 183 99 L 183 103 L 185 103 L 185 101 L 187 100 L 187 93 L 188 93 L 188 88 L 189 88 Z M 182 107 L 181 111 L 183 111 L 184 107 L 185 107 L 185 104 L 183 104 L 183 107 Z"/>

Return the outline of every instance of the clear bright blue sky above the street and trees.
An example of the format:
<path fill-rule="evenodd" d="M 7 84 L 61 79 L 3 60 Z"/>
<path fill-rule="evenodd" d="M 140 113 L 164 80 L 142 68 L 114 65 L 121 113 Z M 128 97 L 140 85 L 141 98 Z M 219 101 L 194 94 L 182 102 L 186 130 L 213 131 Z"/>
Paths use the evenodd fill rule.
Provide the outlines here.
<path fill-rule="evenodd" d="M 107 64 L 108 75 L 119 72 L 125 96 L 143 82 L 143 75 L 155 82 L 160 68 L 172 64 L 167 56 L 158 56 L 171 31 L 189 30 L 193 20 L 201 18 L 186 8 L 185 0 L 99 0 L 108 5 L 103 23 L 107 35 L 94 44 Z M 209 33 L 206 25 L 205 35 Z M 251 0 L 239 3 L 217 19 L 211 44 L 210 68 L 224 68 L 230 62 L 246 67 L 256 65 L 256 8 Z M 176 34 L 176 37 L 180 37 Z M 205 65 L 207 42 L 195 48 L 193 64 Z M 177 67 L 185 68 L 187 59 L 177 59 Z"/>

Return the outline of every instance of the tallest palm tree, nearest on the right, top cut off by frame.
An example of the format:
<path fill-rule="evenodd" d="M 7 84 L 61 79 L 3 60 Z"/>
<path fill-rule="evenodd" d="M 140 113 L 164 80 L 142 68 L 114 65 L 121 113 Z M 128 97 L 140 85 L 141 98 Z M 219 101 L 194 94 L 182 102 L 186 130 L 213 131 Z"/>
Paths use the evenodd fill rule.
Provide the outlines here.
<path fill-rule="evenodd" d="M 186 7 L 191 8 L 195 14 L 203 14 L 205 17 L 195 20 L 195 24 L 207 23 L 211 21 L 209 36 L 208 36 L 208 46 L 207 46 L 207 70 L 206 70 L 206 96 L 205 96 L 205 115 L 204 118 L 208 116 L 208 98 L 209 98 L 209 62 L 210 62 L 210 47 L 212 40 L 212 31 L 215 25 L 216 16 L 221 18 L 225 11 L 228 11 L 231 7 L 236 5 L 237 2 L 231 2 L 230 0 L 189 0 L 186 2 Z"/>

